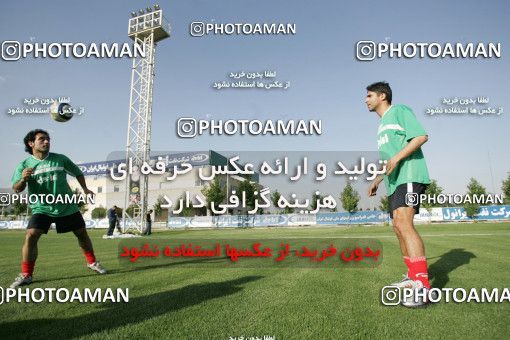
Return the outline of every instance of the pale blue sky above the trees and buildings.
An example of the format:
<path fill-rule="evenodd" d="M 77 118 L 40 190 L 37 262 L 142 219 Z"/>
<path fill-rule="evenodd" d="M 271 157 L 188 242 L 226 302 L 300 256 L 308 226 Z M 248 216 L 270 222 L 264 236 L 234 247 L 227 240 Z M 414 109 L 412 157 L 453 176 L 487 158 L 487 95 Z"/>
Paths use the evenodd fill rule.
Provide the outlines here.
<path fill-rule="evenodd" d="M 146 1 L 6 1 L 2 41 L 124 43 L 132 10 Z M 506 1 L 162 1 L 171 37 L 158 43 L 154 81 L 153 151 L 377 150 L 378 116 L 364 104 L 366 86 L 387 81 L 393 103 L 411 107 L 429 135 L 429 173 L 447 193 L 464 193 L 471 177 L 500 193 L 510 172 Z M 192 22 L 294 23 L 295 35 L 193 37 Z M 360 40 L 387 43 L 500 43 L 500 58 L 356 59 Z M 286 90 L 222 89 L 231 72 L 275 71 Z M 27 154 L 22 139 L 46 129 L 52 151 L 76 163 L 105 160 L 125 149 L 131 60 L 26 58 L 0 60 L 0 187 L 9 187 Z M 67 96 L 84 113 L 66 123 L 47 115 L 14 115 L 25 98 Z M 430 116 L 443 98 L 489 98 L 501 115 Z M 195 119 L 315 119 L 320 136 L 200 136 L 179 138 L 176 121 Z M 338 190 L 345 181 L 338 182 Z M 362 206 L 376 206 L 366 199 Z"/>

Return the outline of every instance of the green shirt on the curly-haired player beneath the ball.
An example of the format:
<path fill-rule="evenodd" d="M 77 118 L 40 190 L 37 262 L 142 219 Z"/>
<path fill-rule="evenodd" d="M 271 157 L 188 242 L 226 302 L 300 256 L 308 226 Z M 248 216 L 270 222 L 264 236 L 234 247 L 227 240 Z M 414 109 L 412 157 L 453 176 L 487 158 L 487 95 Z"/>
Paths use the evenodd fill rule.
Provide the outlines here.
<path fill-rule="evenodd" d="M 83 176 L 80 168 L 74 164 L 69 158 L 58 153 L 48 153 L 46 158 L 37 159 L 30 156 L 22 161 L 12 175 L 12 184 L 17 183 L 23 176 L 22 172 L 25 168 L 34 168 L 33 174 L 27 181 L 28 194 L 52 194 L 68 195 L 71 197 L 73 192 L 67 183 L 66 174 L 74 177 Z M 76 204 L 54 203 L 46 204 L 41 200 L 30 203 L 32 214 L 45 214 L 53 217 L 68 216 L 74 214 L 80 209 Z"/>

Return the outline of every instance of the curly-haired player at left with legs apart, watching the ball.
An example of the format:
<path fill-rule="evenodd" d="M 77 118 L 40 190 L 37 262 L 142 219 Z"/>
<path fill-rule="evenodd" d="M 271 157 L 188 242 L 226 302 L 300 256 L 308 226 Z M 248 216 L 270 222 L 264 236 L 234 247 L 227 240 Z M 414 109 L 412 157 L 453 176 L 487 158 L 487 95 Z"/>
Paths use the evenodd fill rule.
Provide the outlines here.
<path fill-rule="evenodd" d="M 12 176 L 12 188 L 22 192 L 28 186 L 29 195 L 68 196 L 73 192 L 67 183 L 66 174 L 75 176 L 85 195 L 94 195 L 87 188 L 85 177 L 80 168 L 64 155 L 50 152 L 50 136 L 44 130 L 30 131 L 24 138 L 25 151 L 31 156 L 22 161 Z M 57 200 L 58 201 L 58 200 Z M 37 259 L 37 242 L 42 234 L 47 234 L 52 223 L 57 233 L 72 231 L 87 260 L 87 266 L 100 273 L 106 270 L 96 261 L 92 242 L 85 229 L 85 221 L 76 204 L 56 202 L 48 204 L 44 199 L 30 202 L 32 217 L 28 222 L 25 242 L 22 249 L 21 274 L 12 283 L 11 288 L 32 283 L 35 261 Z"/>

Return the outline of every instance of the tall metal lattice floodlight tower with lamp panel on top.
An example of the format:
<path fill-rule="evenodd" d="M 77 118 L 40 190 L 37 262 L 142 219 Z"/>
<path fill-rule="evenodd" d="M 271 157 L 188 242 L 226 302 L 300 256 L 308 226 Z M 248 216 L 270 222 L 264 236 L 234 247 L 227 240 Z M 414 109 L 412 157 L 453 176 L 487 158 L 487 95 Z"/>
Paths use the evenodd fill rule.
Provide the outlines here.
<path fill-rule="evenodd" d="M 132 164 L 133 172 L 126 177 L 122 229 L 134 228 L 142 232 L 146 225 L 149 178 L 141 175 L 139 170 L 144 162 L 150 160 L 156 43 L 170 36 L 170 25 L 161 8 L 154 5 L 153 8 L 147 7 L 146 11 L 131 12 L 128 36 L 133 39 L 135 49 L 142 48 L 145 55 L 133 53 L 126 144 L 126 164 Z M 129 206 L 133 207 L 130 214 L 127 213 Z"/>

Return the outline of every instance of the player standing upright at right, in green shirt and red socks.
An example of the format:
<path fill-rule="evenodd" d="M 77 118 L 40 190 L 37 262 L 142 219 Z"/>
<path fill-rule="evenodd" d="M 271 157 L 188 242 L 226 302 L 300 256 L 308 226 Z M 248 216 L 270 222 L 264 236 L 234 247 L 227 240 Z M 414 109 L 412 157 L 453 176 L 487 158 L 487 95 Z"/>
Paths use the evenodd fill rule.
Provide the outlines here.
<path fill-rule="evenodd" d="M 368 110 L 381 118 L 377 144 L 381 159 L 386 160 L 385 175 L 378 176 L 368 189 L 375 196 L 384 180 L 388 194 L 389 213 L 393 230 L 400 242 L 400 250 L 407 266 L 407 275 L 392 286 L 421 291 L 427 296 L 430 289 L 427 259 L 423 240 L 414 228 L 413 218 L 419 212 L 419 197 L 430 184 L 429 174 L 421 146 L 428 135 L 405 105 L 392 105 L 392 92 L 388 83 L 378 82 L 367 87 Z M 407 307 L 426 304 L 427 299 L 404 301 Z"/>

